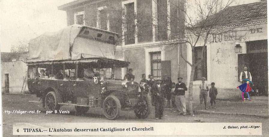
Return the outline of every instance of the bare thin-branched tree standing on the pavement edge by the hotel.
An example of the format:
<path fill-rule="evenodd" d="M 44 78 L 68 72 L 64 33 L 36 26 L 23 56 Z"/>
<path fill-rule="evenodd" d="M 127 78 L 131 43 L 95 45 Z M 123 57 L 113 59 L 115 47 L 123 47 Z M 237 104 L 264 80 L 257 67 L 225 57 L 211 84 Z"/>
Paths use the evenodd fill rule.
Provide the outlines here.
<path fill-rule="evenodd" d="M 188 98 L 190 114 L 193 114 L 192 93 L 193 81 L 195 80 L 195 68 L 201 63 L 204 63 L 206 45 L 209 42 L 208 40 L 210 39 L 210 36 L 212 36 L 211 34 L 222 35 L 232 31 L 224 30 L 218 26 L 224 25 L 225 22 L 222 22 L 222 20 L 227 17 L 228 12 L 226 9 L 233 0 L 228 0 L 226 2 L 223 0 L 207 0 L 203 2 L 201 0 L 195 0 L 192 2 L 193 3 L 191 4 L 189 1 L 184 1 L 184 6 L 174 5 L 174 7 L 177 7 L 178 11 L 182 12 L 185 16 L 185 34 L 177 35 L 179 36 L 179 39 L 170 39 L 174 44 L 180 44 L 180 56 L 191 67 Z M 182 7 L 184 7 L 184 9 L 182 9 Z M 183 43 L 186 44 L 186 46 L 191 47 L 192 62 L 188 61 L 182 54 Z M 197 45 L 198 43 L 202 43 L 202 45 Z M 202 46 L 202 57 L 199 61 L 195 60 L 195 47 L 197 46 Z"/>

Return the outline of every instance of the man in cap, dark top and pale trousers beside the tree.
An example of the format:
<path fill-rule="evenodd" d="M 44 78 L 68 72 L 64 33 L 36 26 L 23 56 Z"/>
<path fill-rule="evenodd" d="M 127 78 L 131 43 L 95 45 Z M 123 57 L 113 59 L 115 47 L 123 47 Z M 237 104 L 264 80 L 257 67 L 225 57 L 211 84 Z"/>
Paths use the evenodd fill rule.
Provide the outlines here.
<path fill-rule="evenodd" d="M 178 83 L 175 87 L 175 95 L 176 95 L 176 105 L 177 110 L 179 111 L 178 115 L 183 114 L 186 116 L 186 99 L 185 99 L 185 91 L 187 90 L 186 84 L 182 82 L 183 78 L 177 78 Z"/>

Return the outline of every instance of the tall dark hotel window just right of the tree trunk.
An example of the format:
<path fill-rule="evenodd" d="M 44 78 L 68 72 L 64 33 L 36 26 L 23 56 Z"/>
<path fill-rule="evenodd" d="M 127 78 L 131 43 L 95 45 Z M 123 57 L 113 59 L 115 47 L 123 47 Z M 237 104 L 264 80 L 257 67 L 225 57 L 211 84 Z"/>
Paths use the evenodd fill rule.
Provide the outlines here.
<path fill-rule="evenodd" d="M 204 54 L 202 53 L 203 46 L 195 48 L 195 67 L 194 80 L 201 80 L 202 77 L 207 79 L 207 47 L 205 46 Z M 202 58 L 204 59 L 202 61 Z"/>

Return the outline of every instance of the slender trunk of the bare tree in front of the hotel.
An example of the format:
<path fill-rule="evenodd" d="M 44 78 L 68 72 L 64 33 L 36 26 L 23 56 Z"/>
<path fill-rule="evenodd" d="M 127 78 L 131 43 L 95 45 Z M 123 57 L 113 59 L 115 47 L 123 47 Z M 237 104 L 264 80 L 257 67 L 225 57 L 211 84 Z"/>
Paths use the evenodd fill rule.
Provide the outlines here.
<path fill-rule="evenodd" d="M 193 108 L 192 108 L 192 101 L 193 101 L 193 96 L 192 96 L 192 87 L 193 87 L 193 79 L 194 79 L 194 71 L 195 71 L 195 54 L 192 51 L 192 70 L 191 70 L 191 76 L 190 76 L 190 82 L 189 82 L 189 113 L 190 115 L 193 114 Z"/>

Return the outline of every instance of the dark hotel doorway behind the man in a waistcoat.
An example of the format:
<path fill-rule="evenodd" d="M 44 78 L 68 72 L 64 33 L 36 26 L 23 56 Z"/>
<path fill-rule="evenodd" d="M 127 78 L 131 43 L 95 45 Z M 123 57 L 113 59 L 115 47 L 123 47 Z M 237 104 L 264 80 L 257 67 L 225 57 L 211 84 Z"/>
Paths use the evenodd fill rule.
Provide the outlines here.
<path fill-rule="evenodd" d="M 259 95 L 264 96 L 268 96 L 267 47 L 267 40 L 248 41 L 246 42 L 246 54 L 238 54 L 238 80 L 246 65 L 252 76 L 253 89 L 259 90 Z"/>

